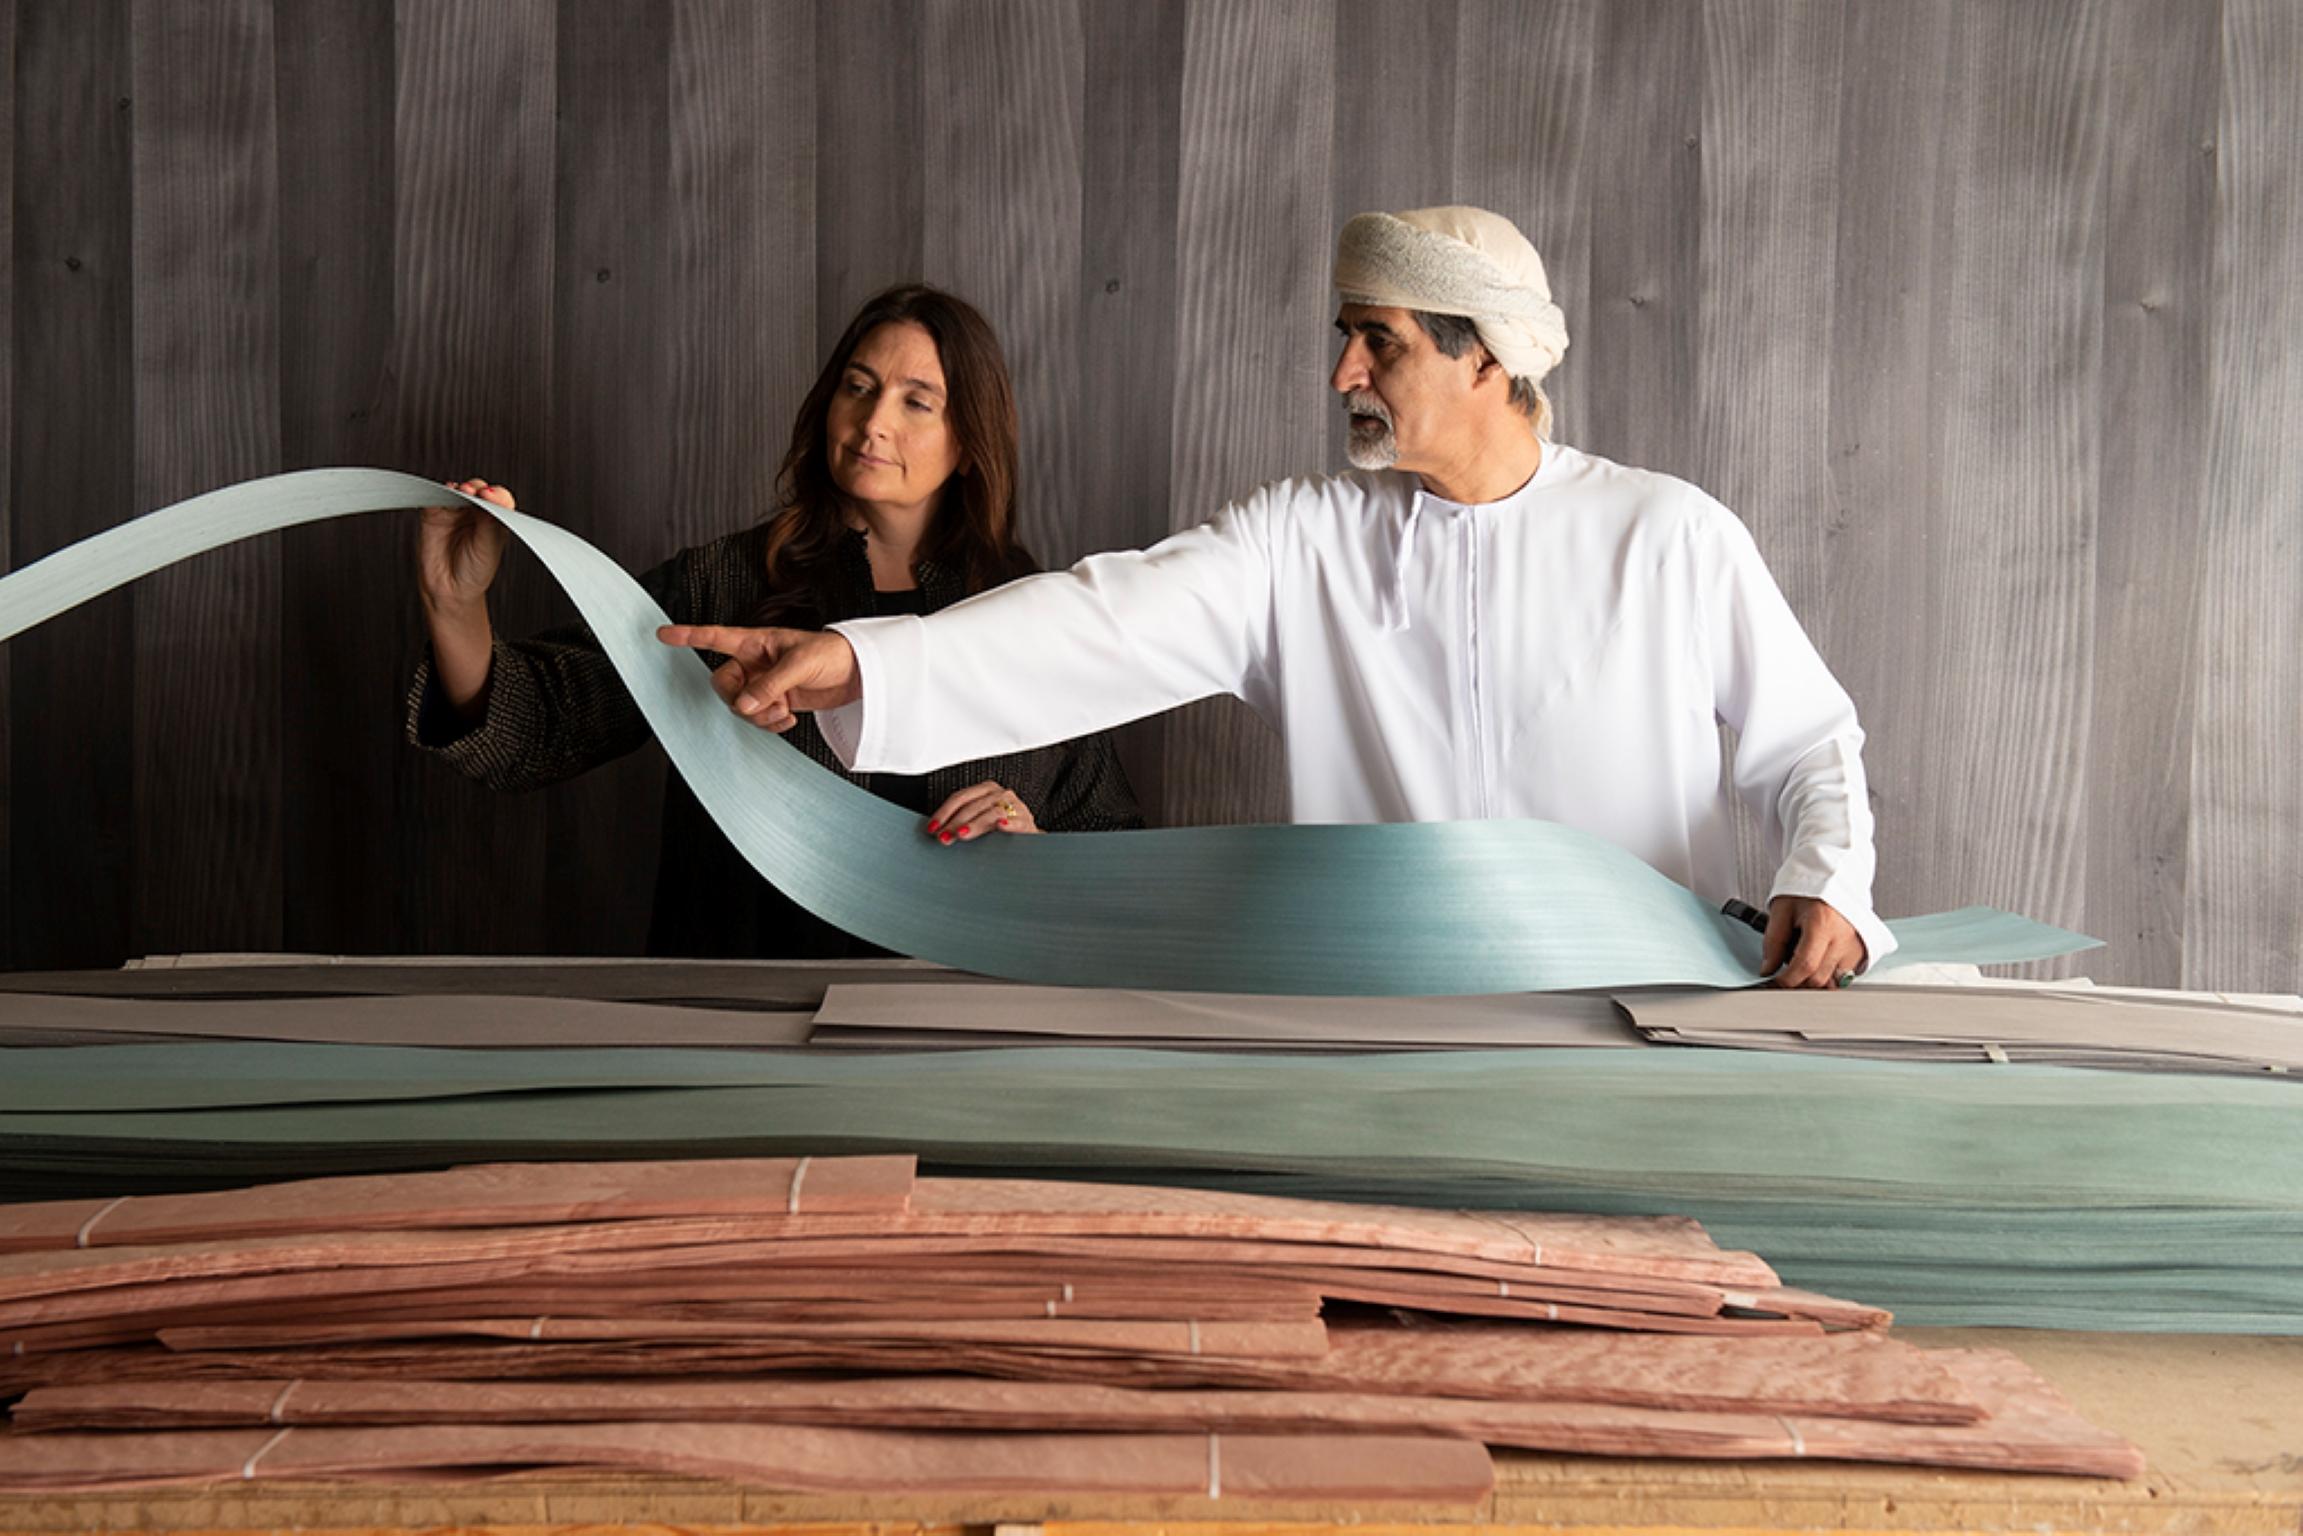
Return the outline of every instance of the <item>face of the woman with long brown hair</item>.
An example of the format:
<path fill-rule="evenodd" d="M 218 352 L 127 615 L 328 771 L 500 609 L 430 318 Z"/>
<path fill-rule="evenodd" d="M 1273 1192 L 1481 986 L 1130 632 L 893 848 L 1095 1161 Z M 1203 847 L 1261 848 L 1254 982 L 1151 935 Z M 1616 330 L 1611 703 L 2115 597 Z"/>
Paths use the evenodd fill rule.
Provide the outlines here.
<path fill-rule="evenodd" d="M 891 320 L 864 334 L 848 357 L 824 454 L 831 479 L 861 504 L 921 509 L 960 467 L 960 440 L 944 398 L 944 359 L 917 320 Z"/>

